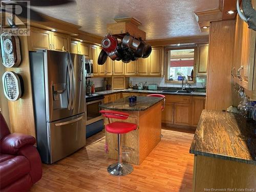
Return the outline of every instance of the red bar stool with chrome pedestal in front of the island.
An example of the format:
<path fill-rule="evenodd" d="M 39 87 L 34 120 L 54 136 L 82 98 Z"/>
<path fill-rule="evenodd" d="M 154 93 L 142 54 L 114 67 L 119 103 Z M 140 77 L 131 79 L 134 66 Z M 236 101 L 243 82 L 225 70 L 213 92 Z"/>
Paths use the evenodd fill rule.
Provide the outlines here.
<path fill-rule="evenodd" d="M 130 116 L 128 113 L 118 111 L 105 111 L 101 110 L 100 113 L 103 117 L 108 118 L 109 124 L 106 125 L 106 131 L 109 133 L 117 134 L 118 140 L 118 162 L 111 164 L 108 167 L 108 172 L 114 176 L 125 176 L 133 172 L 133 166 L 129 163 L 122 162 L 122 143 L 121 134 L 128 133 L 138 129 L 137 118 Z M 135 123 L 114 121 L 110 123 L 110 118 L 122 119 L 134 118 Z"/>

